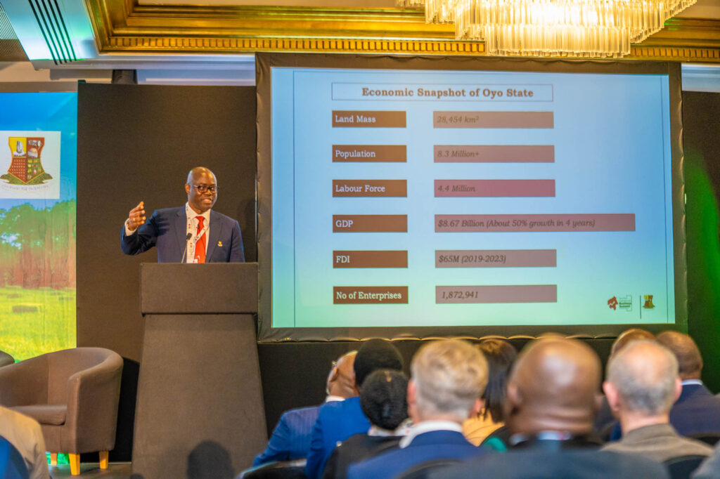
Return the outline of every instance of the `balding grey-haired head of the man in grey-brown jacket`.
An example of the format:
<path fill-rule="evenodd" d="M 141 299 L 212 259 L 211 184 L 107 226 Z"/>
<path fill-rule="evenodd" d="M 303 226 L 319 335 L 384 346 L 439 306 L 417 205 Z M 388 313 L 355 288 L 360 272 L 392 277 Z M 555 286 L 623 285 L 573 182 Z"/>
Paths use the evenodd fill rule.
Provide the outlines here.
<path fill-rule="evenodd" d="M 666 347 L 643 339 L 623 348 L 608 362 L 608 402 L 613 410 L 657 416 L 667 414 L 680 393 L 678 361 Z M 617 397 L 615 397 L 617 396 Z"/>

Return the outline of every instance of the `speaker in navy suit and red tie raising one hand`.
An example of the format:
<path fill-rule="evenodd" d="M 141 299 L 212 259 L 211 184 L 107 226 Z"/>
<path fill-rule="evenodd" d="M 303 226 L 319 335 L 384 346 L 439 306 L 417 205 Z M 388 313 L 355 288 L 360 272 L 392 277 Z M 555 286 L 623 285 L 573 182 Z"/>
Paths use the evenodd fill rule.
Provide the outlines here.
<path fill-rule="evenodd" d="M 130 210 L 120 235 L 126 255 L 156 246 L 158 263 L 241 263 L 245 260 L 240 224 L 212 211 L 217 179 L 207 168 L 193 168 L 185 184 L 187 204 L 158 209 L 145 218 L 145 204 Z M 142 226 L 141 226 L 142 225 Z"/>

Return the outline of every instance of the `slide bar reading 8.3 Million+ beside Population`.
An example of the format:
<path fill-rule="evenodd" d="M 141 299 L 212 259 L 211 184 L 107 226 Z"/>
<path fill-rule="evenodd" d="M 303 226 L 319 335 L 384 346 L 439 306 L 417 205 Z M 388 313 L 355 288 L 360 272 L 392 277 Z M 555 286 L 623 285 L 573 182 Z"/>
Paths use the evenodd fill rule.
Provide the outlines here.
<path fill-rule="evenodd" d="M 435 163 L 554 163 L 555 145 L 435 145 Z"/>

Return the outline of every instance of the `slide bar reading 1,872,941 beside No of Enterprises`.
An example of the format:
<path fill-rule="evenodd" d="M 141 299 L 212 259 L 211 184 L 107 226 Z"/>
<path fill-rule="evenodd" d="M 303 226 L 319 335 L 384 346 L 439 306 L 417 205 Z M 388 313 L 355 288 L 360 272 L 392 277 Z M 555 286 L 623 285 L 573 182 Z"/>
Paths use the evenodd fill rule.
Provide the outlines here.
<path fill-rule="evenodd" d="M 557 303 L 557 285 L 436 286 L 435 303 Z"/>

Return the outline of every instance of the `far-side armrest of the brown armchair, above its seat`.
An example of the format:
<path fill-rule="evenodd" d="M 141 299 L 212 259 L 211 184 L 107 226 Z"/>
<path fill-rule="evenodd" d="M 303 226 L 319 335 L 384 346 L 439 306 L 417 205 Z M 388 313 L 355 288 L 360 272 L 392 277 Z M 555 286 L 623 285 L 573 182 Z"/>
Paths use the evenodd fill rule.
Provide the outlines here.
<path fill-rule="evenodd" d="M 6 407 L 48 402 L 48 362 L 32 357 L 0 368 L 0 404 Z"/>

